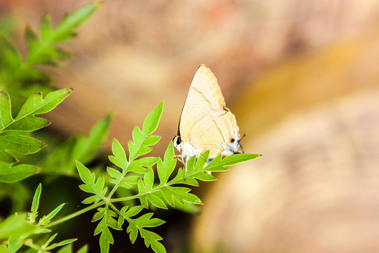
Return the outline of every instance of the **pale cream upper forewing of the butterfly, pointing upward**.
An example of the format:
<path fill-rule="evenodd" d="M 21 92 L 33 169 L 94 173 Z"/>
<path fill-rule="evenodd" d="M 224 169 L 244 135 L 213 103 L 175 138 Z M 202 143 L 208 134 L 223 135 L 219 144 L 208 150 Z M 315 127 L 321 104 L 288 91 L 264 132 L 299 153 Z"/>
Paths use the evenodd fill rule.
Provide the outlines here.
<path fill-rule="evenodd" d="M 211 70 L 200 65 L 189 87 L 187 99 L 180 116 L 178 135 L 189 141 L 191 129 L 204 117 L 225 108 L 220 86 Z"/>

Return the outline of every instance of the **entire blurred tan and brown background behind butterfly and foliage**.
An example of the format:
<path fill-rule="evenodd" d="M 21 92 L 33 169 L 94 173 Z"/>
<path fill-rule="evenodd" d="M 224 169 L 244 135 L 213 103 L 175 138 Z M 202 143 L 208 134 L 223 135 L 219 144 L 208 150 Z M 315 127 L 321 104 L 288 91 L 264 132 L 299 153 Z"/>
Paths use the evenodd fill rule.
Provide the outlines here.
<path fill-rule="evenodd" d="M 0 15 L 25 48 L 27 24 L 88 2 L 0 0 Z M 195 189 L 199 215 L 166 217 L 168 252 L 379 251 L 379 1 L 112 0 L 78 33 L 65 44 L 76 56 L 46 69 L 74 88 L 48 115 L 53 131 L 87 133 L 114 110 L 107 155 L 164 100 L 157 132 L 175 134 L 204 63 L 245 152 L 263 155 Z"/>

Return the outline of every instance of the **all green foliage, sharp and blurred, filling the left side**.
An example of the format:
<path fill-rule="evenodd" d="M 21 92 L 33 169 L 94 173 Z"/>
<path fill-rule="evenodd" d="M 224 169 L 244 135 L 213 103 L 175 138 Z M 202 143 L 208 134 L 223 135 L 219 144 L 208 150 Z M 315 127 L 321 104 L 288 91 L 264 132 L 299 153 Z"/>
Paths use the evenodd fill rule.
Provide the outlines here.
<path fill-rule="evenodd" d="M 80 190 L 89 194 L 82 201 L 88 205 L 86 208 L 54 220 L 65 203 L 56 204 L 58 206 L 51 207 L 50 212 L 42 210 L 41 213 L 47 214 L 41 216 L 39 204 L 42 184 L 39 183 L 29 212 L 18 212 L 1 221 L 0 253 L 48 253 L 51 250 L 71 253 L 72 242 L 77 239 L 54 242 L 57 234 L 51 233 L 53 226 L 93 209 L 96 212 L 92 221 L 98 222 L 94 234 L 100 235 L 102 253 L 109 252 L 110 245 L 114 243 L 112 231 L 123 229 L 129 233 L 132 243 L 140 235 L 146 247 L 151 247 L 154 252 L 166 252 L 161 243 L 161 236 L 152 231 L 152 228 L 165 223 L 162 219 L 153 218 L 154 210 L 168 207 L 189 210 L 195 205 L 201 205 L 199 197 L 192 194 L 191 188 L 186 186 L 199 186 L 199 181 L 214 181 L 215 177 L 209 172 L 225 171 L 228 166 L 260 156 L 237 154 L 224 159 L 218 156 L 206 164 L 206 152 L 199 159 L 189 159 L 186 169 L 180 168 L 178 171 L 175 171 L 177 160 L 173 143 L 168 144 L 163 160 L 161 157 L 147 156 L 152 150 L 152 145 L 160 140 L 159 136 L 152 134 L 159 124 L 164 103 L 159 104 L 147 115 L 142 129 L 135 126 L 133 140 L 127 145 L 128 156 L 123 145 L 114 139 L 112 155 L 109 156 L 112 166 L 100 171 L 102 174 L 99 174 L 98 170 L 88 169 L 86 164 L 88 166 L 98 155 L 100 145 L 107 136 L 112 114 L 95 124 L 88 136 L 73 136 L 50 148 L 50 152 L 37 153 L 46 147 L 46 143 L 35 138 L 34 131 L 51 123 L 37 115 L 53 110 L 69 96 L 72 89 L 53 91 L 51 87 L 46 86 L 51 82 L 50 77 L 37 70 L 36 66 L 57 65 L 61 60 L 71 56 L 71 53 L 60 48 L 58 44 L 72 39 L 76 35 L 74 30 L 87 20 L 98 6 L 99 3 L 96 2 L 79 8 L 66 15 L 55 28 L 49 15 L 42 18 L 38 33 L 27 27 L 25 58 L 22 58 L 4 34 L 0 34 L 0 89 L 7 90 L 0 91 L 0 199 L 13 193 L 10 196 L 13 209 L 24 209 L 25 202 L 31 196 L 21 180 L 41 171 L 48 175 L 49 179 L 52 178 L 51 175 L 79 177 L 83 181 L 79 186 Z M 48 92 L 43 98 L 41 92 L 35 91 Z M 36 162 L 25 163 L 29 154 L 34 154 Z M 156 176 L 154 169 L 157 171 Z M 78 252 L 88 252 L 88 247 L 84 246 Z"/>

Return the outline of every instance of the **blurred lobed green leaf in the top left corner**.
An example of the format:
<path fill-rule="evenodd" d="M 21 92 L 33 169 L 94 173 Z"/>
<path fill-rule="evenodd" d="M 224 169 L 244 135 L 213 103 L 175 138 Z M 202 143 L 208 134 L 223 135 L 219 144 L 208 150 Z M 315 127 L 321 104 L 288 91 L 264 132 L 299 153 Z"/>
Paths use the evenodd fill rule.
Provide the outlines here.
<path fill-rule="evenodd" d="M 45 15 L 39 24 L 39 34 L 34 32 L 32 27 L 27 27 L 25 38 L 28 51 L 25 59 L 22 59 L 15 46 L 0 34 L 0 89 L 8 89 L 12 96 L 26 98 L 31 93 L 41 90 L 41 85 L 50 83 L 50 77 L 36 70 L 36 65 L 56 65 L 71 56 L 71 53 L 59 48 L 57 44 L 75 37 L 75 29 L 87 20 L 99 5 L 98 2 L 88 4 L 74 13 L 65 15 L 55 29 L 51 16 Z"/>

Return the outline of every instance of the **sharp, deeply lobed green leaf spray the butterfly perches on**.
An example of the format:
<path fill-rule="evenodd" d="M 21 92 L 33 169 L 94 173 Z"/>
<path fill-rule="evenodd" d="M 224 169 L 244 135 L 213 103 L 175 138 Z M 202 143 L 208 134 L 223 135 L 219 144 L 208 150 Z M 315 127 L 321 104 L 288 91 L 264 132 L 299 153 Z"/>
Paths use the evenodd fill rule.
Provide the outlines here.
<path fill-rule="evenodd" d="M 112 156 L 109 160 L 117 166 L 117 169 L 107 167 L 107 173 L 110 176 L 109 183 L 112 189 L 107 194 L 105 186 L 105 177 L 99 176 L 86 168 L 80 162 L 77 162 L 77 169 L 81 180 L 85 183 L 81 185 L 81 190 L 91 193 L 83 202 L 85 204 L 102 205 L 98 208 L 93 216 L 93 221 L 100 221 L 95 228 L 95 235 L 100 234 L 101 252 L 109 252 L 109 245 L 114 240 L 110 228 L 121 230 L 121 226 L 126 222 L 128 226 L 126 232 L 129 233 L 131 242 L 135 242 L 138 234 L 145 240 L 146 247 L 151 247 L 154 252 L 166 252 L 164 246 L 159 242 L 162 238 L 148 228 L 153 228 L 164 223 L 163 220 L 152 218 L 153 213 L 142 214 L 143 209 L 158 207 L 167 209 L 167 206 L 185 205 L 185 203 L 202 204 L 199 197 L 189 193 L 190 188 L 182 185 L 199 186 L 198 181 L 213 181 L 215 177 L 208 174 L 209 171 L 225 171 L 226 166 L 238 164 L 248 160 L 253 160 L 260 155 L 236 154 L 222 159 L 221 156 L 206 165 L 208 152 L 204 153 L 201 158 L 192 157 L 187 162 L 187 175 L 185 170 L 179 169 L 174 176 L 173 171 L 176 165 L 173 143 L 168 145 L 164 160 L 158 157 L 140 157 L 147 155 L 152 150 L 150 147 L 159 141 L 157 136 L 151 135 L 157 129 L 159 119 L 163 111 L 163 103 L 157 106 L 145 119 L 142 130 L 135 127 L 133 130 L 133 141 L 128 142 L 129 160 L 122 145 L 116 139 L 112 145 Z M 159 183 L 154 183 L 154 171 L 152 166 L 157 164 Z M 205 166 L 206 165 L 206 166 Z M 117 188 L 127 188 L 135 190 L 135 194 L 128 197 L 112 198 Z M 134 207 L 122 206 L 121 209 L 116 207 L 116 202 L 125 200 L 138 199 L 140 205 Z"/>

